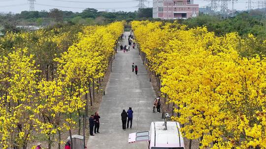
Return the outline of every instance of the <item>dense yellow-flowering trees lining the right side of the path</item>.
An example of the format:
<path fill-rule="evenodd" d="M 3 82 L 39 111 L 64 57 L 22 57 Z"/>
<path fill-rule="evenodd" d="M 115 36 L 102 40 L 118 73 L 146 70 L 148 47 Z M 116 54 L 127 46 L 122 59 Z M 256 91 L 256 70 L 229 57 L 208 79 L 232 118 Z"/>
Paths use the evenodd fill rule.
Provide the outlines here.
<path fill-rule="evenodd" d="M 177 23 L 132 27 L 190 149 L 192 140 L 200 149 L 266 148 L 266 59 L 256 49 L 265 53 L 266 40 Z"/>

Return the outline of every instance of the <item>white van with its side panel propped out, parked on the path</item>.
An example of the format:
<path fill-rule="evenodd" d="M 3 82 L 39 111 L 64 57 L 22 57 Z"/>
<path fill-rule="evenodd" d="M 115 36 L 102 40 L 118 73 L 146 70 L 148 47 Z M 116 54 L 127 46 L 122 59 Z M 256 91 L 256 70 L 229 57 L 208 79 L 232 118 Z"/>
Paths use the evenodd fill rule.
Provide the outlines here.
<path fill-rule="evenodd" d="M 129 143 L 148 141 L 148 149 L 185 149 L 177 122 L 152 122 L 150 131 L 129 134 Z"/>

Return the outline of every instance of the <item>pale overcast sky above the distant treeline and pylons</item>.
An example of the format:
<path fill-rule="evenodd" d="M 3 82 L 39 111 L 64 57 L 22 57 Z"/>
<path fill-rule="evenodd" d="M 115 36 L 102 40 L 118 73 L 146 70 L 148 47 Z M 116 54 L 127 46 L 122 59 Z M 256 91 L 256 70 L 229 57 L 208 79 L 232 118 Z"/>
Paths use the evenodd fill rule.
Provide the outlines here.
<path fill-rule="evenodd" d="M 152 7 L 151 2 L 145 2 L 146 6 Z M 252 0 L 254 8 L 258 7 L 259 0 Z M 198 3 L 199 7 L 205 6 L 210 3 L 209 0 L 194 0 Z M 61 10 L 81 12 L 84 8 L 96 8 L 99 11 L 109 10 L 112 11 L 135 11 L 137 10 L 138 0 L 36 0 L 35 10 L 47 10 L 52 8 L 59 8 Z M 229 2 L 228 8 L 232 9 L 232 2 Z M 237 10 L 247 9 L 247 0 L 238 0 L 234 8 Z M 0 12 L 14 12 L 20 13 L 21 11 L 29 10 L 28 0 L 0 0 Z"/>

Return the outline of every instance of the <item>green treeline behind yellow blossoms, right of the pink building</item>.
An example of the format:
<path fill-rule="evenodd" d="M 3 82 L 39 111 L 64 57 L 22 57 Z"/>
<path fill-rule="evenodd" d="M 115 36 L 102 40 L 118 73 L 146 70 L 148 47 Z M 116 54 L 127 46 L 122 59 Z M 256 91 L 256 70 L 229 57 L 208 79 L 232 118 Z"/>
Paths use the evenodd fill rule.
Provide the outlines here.
<path fill-rule="evenodd" d="M 215 32 L 216 35 L 225 35 L 229 32 L 238 32 L 239 35 L 253 34 L 266 38 L 266 18 L 262 10 L 237 13 L 235 17 L 221 20 L 220 16 L 210 16 L 201 14 L 197 18 L 179 20 L 179 23 L 188 25 L 189 28 L 206 26 L 208 31 Z"/>

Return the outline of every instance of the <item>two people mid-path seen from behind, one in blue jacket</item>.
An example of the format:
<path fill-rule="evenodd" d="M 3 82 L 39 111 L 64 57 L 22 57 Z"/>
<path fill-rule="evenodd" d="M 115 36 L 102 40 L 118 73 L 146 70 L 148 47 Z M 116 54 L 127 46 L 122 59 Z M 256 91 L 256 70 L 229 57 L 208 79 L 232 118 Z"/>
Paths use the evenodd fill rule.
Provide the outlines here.
<path fill-rule="evenodd" d="M 123 110 L 123 112 L 121 113 L 121 120 L 122 120 L 123 130 L 126 130 L 126 125 L 127 125 L 127 129 L 129 128 L 129 123 L 130 123 L 130 128 L 132 129 L 132 120 L 133 120 L 132 107 L 129 107 L 127 112 L 125 109 Z"/>

